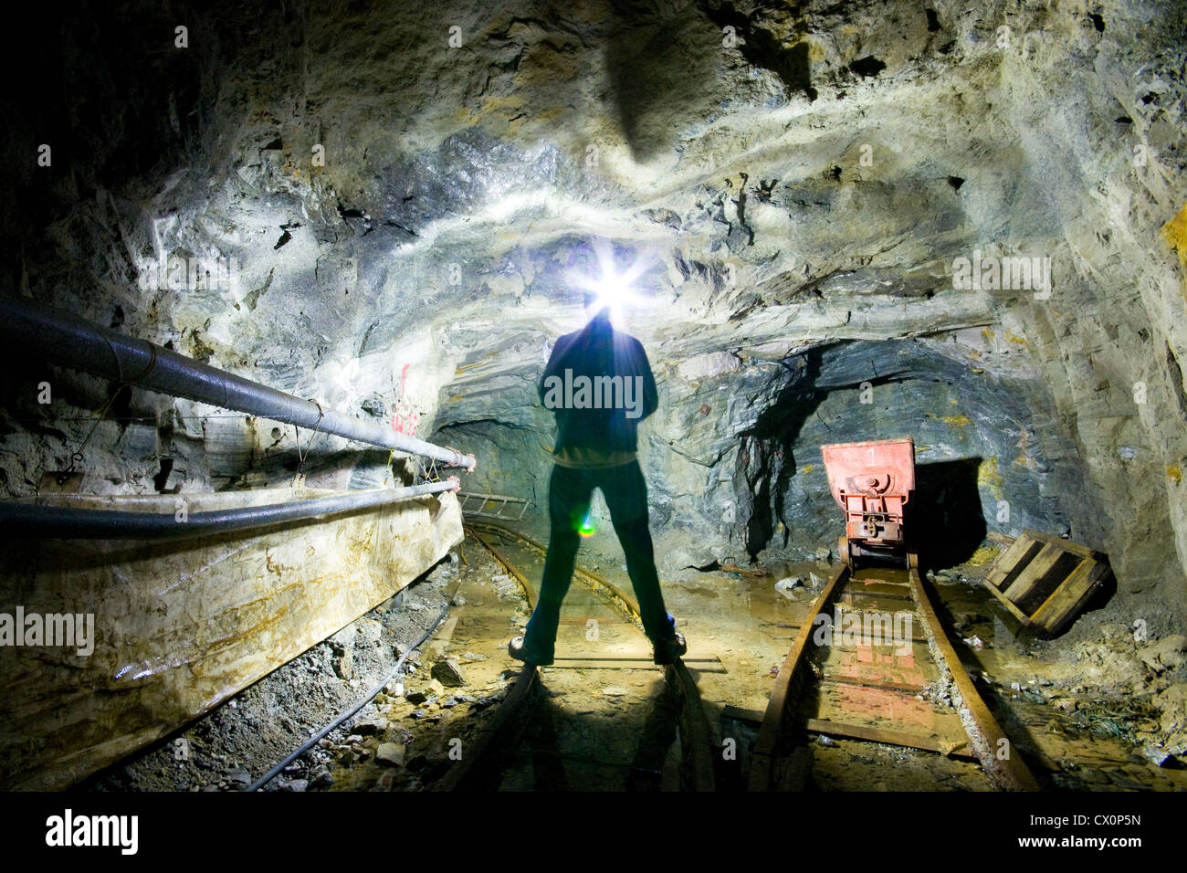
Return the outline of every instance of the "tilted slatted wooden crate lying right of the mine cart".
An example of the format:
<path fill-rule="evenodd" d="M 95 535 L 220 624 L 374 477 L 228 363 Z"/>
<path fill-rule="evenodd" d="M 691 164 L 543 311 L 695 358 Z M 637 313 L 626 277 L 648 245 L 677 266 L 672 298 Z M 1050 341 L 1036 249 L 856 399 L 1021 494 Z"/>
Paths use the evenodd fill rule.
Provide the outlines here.
<path fill-rule="evenodd" d="M 1111 572 L 1100 552 L 1026 530 L 985 577 L 985 587 L 1024 627 L 1053 637 L 1084 607 Z"/>

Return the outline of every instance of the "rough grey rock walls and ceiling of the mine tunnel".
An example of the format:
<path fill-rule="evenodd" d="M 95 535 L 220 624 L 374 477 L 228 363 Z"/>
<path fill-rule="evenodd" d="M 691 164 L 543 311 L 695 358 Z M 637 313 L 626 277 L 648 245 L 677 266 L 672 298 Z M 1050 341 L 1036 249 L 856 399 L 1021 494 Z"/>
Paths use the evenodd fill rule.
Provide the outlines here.
<path fill-rule="evenodd" d="M 1182 615 L 1182 5 L 173 8 L 83 7 L 6 52 L 52 72 L 6 107 L 4 287 L 475 451 L 466 487 L 539 508 L 535 382 L 580 323 L 566 270 L 608 238 L 648 264 L 628 320 L 664 569 L 814 553 L 819 444 L 910 435 L 954 561 L 1067 533 L 1151 633 Z M 1050 296 L 953 287 L 975 252 L 1050 258 Z M 235 281 L 141 287 L 171 257 Z M 0 489 L 66 467 L 115 387 L 18 361 Z M 311 485 L 389 475 L 132 391 L 84 488 L 254 487 L 298 445 Z"/>

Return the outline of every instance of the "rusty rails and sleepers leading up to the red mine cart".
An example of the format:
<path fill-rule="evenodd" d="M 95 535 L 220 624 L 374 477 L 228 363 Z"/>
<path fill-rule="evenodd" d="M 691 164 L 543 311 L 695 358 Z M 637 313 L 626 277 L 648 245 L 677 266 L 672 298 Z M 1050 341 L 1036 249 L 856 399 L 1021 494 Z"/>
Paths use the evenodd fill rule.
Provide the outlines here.
<path fill-rule="evenodd" d="M 821 616 L 837 603 L 838 599 L 877 597 L 865 590 L 870 574 L 876 572 L 876 582 L 882 590 L 897 589 L 896 593 L 882 594 L 888 601 L 896 601 L 896 609 L 910 607 L 910 615 L 918 618 L 923 627 L 931 664 L 940 678 L 951 678 L 957 695 L 953 695 L 956 715 L 963 728 L 963 736 L 937 736 L 921 730 L 902 730 L 886 728 L 881 725 L 848 725 L 812 717 L 808 702 L 817 696 L 823 700 L 826 690 L 842 688 L 853 689 L 894 700 L 896 695 L 903 700 L 914 700 L 921 687 L 878 682 L 857 676 L 830 676 L 820 669 L 820 662 L 826 660 L 825 651 L 830 645 L 826 639 L 819 644 L 820 634 L 815 631 L 824 625 Z M 857 578 L 862 574 L 864 578 Z M 859 584 L 864 582 L 865 584 Z M 901 593 L 901 594 L 900 594 Z M 907 595 L 906 597 L 902 595 Z M 859 602 L 864 602 L 861 601 Z M 915 638 L 919 641 L 920 638 Z M 907 644 L 910 643 L 908 638 Z M 913 657 L 913 656 L 912 656 Z M 821 675 L 817 675 L 821 673 Z M 887 709 L 894 710 L 894 707 Z M 883 710 L 884 711 L 884 710 Z M 952 721 L 950 719 L 950 721 Z M 973 685 L 972 678 L 960 664 L 956 650 L 948 641 L 940 625 L 935 609 L 927 595 L 923 581 L 914 567 L 909 569 L 870 568 L 855 571 L 848 565 L 840 565 L 830 577 L 823 592 L 817 597 L 810 613 L 799 626 L 799 632 L 787 657 L 779 670 L 772 688 L 767 709 L 762 715 L 758 738 L 750 757 L 748 785 L 751 791 L 794 790 L 802 787 L 806 779 L 801 766 L 802 745 L 798 738 L 804 732 L 827 733 L 833 736 L 887 742 L 899 746 L 927 749 L 941 754 L 972 758 L 980 763 L 994 785 L 1005 791 L 1036 791 L 1039 784 L 1027 768 L 1022 757 L 1005 736 L 989 707 L 982 700 Z"/>

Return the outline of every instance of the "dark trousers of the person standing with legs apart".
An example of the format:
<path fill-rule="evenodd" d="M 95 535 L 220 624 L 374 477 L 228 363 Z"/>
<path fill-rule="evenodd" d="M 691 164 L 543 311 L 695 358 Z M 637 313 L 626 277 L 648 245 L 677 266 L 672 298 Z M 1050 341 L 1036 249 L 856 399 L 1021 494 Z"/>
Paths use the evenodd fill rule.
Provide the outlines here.
<path fill-rule="evenodd" d="M 652 643 L 671 639 L 675 619 L 664 608 L 655 552 L 647 527 L 647 482 L 639 462 L 604 469 L 578 469 L 554 464 L 548 481 L 548 517 L 552 532 L 544 561 L 539 601 L 523 634 L 523 649 L 535 663 L 551 663 L 560 624 L 560 603 L 569 593 L 580 544 L 580 527 L 590 510 L 594 489 L 601 488 L 610 510 L 614 532 L 627 556 L 627 574 L 639 600 L 643 631 Z"/>

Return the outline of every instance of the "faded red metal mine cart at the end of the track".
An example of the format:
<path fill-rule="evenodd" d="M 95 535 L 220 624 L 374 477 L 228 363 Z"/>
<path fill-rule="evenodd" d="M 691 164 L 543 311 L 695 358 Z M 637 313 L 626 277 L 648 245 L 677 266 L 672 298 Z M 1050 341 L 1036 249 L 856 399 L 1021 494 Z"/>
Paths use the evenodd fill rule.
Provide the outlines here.
<path fill-rule="evenodd" d="M 907 551 L 903 508 L 915 488 L 915 443 L 909 437 L 821 445 L 829 488 L 845 512 L 840 558 L 888 558 L 915 565 Z"/>

